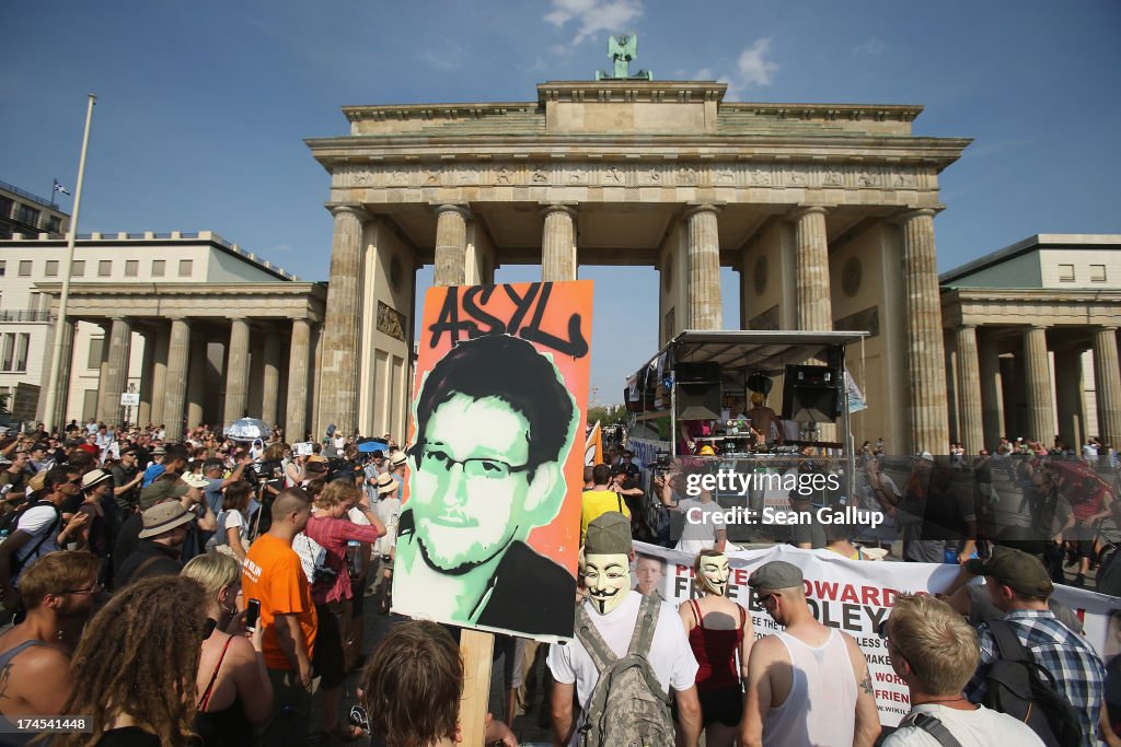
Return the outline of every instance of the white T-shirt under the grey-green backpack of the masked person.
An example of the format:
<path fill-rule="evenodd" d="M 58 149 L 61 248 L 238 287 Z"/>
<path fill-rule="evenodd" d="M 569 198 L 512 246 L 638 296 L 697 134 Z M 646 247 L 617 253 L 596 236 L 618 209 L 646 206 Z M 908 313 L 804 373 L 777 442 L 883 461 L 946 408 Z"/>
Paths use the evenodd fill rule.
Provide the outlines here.
<path fill-rule="evenodd" d="M 638 622 L 638 610 L 642 604 L 642 596 L 639 594 L 628 594 L 622 604 L 606 615 L 600 615 L 587 605 L 589 616 L 595 624 L 608 647 L 617 656 L 626 656 L 630 646 L 631 636 L 634 633 L 634 624 Z M 685 626 L 682 618 L 667 603 L 663 601 L 658 611 L 658 626 L 654 631 L 654 641 L 650 643 L 650 666 L 654 669 L 658 682 L 667 692 L 673 690 L 688 690 L 696 682 L 697 660 L 689 648 L 689 639 L 685 635 Z M 592 699 L 592 691 L 600 680 L 600 672 L 595 669 L 591 654 L 584 648 L 580 639 L 574 639 L 567 645 L 550 644 L 547 659 L 549 671 L 553 678 L 563 684 L 576 683 L 576 697 L 580 700 L 581 717 L 576 729 L 573 731 L 573 740 L 569 745 L 575 745 L 578 738 L 581 725 L 584 722 L 584 713 L 587 712 L 589 702 Z"/>

